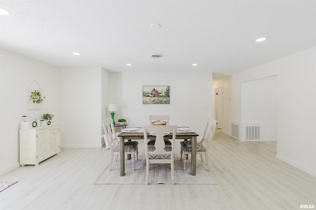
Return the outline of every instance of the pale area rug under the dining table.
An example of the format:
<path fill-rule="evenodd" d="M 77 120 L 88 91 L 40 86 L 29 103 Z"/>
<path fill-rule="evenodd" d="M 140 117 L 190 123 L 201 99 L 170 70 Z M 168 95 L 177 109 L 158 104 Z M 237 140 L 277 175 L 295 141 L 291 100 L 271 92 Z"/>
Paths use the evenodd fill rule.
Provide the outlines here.
<path fill-rule="evenodd" d="M 174 162 L 175 184 L 215 184 L 210 173 L 197 160 L 196 175 L 191 175 L 191 159 L 186 163 L 187 170 L 183 170 L 183 161 L 178 158 Z M 146 159 L 140 156 L 135 162 L 135 171 L 132 170 L 131 160 L 125 159 L 125 176 L 119 176 L 119 161 L 113 163 L 112 171 L 110 165 L 95 180 L 94 184 L 145 184 Z M 150 164 L 149 184 L 171 184 L 170 164 Z"/>

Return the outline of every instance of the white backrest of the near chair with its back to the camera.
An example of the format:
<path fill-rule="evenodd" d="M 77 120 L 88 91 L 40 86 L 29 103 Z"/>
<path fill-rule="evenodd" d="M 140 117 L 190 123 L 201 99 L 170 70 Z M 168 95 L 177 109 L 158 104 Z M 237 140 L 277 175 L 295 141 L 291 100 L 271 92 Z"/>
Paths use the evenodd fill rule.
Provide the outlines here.
<path fill-rule="evenodd" d="M 176 139 L 176 133 L 177 133 L 177 126 L 175 125 L 166 125 L 166 126 L 152 126 L 152 125 L 144 125 L 143 126 L 143 131 L 144 131 L 144 142 L 145 142 L 145 153 L 146 153 L 146 158 L 149 158 L 149 155 L 170 155 L 170 157 L 173 159 L 173 147 L 174 147 L 174 142 Z M 152 151 L 148 151 L 148 133 L 153 133 L 156 136 L 155 140 L 155 147 L 156 149 L 153 149 Z M 168 149 L 167 151 L 165 150 L 165 142 L 163 137 L 165 136 L 166 133 L 172 133 L 172 140 L 171 140 L 171 150 Z"/>

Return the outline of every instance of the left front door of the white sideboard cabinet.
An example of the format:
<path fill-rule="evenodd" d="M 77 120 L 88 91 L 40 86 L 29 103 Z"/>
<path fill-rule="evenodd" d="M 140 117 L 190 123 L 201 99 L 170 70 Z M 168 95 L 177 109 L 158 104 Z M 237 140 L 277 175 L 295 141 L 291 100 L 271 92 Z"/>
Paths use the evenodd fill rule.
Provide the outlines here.
<path fill-rule="evenodd" d="M 48 150 L 48 129 L 38 130 L 36 134 L 36 151 L 38 162 L 47 158 Z"/>

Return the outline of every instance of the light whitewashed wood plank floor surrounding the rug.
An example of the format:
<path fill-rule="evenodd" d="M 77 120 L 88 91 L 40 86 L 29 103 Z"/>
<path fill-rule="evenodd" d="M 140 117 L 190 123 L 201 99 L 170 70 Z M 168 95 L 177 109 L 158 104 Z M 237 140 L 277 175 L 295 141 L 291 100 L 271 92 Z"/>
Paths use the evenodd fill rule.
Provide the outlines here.
<path fill-rule="evenodd" d="M 1 175 L 2 181 L 19 182 L 0 192 L 0 210 L 299 210 L 304 204 L 316 206 L 316 177 L 276 159 L 276 142 L 240 142 L 219 130 L 210 150 L 210 173 L 217 185 L 146 186 L 94 185 L 109 163 L 110 151 L 62 149 L 38 167 L 20 167 Z"/>

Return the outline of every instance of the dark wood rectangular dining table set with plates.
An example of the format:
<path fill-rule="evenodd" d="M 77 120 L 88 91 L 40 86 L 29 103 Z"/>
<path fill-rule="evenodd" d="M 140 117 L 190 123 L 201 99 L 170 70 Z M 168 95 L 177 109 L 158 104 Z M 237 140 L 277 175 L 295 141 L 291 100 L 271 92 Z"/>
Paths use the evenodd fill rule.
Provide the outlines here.
<path fill-rule="evenodd" d="M 125 140 L 144 140 L 144 132 L 142 128 L 139 128 L 133 132 L 127 132 L 122 130 L 118 135 L 119 139 L 119 162 L 120 162 L 120 176 L 125 175 L 125 150 L 124 150 L 124 141 Z M 180 140 L 191 140 L 192 143 L 192 153 L 191 153 L 191 175 L 196 175 L 196 165 L 197 165 L 197 137 L 198 134 L 193 130 L 187 132 L 180 132 L 177 130 L 176 139 Z M 172 133 L 163 137 L 165 140 L 172 139 Z M 155 136 L 152 136 L 148 133 L 147 139 L 156 139 Z"/>

